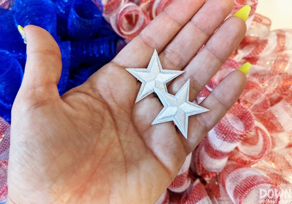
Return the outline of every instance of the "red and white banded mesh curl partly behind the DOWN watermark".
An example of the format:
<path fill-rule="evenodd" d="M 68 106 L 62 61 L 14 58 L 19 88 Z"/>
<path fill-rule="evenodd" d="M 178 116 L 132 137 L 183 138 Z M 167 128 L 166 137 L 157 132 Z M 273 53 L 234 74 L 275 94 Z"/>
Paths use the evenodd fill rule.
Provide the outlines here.
<path fill-rule="evenodd" d="M 279 203 L 273 193 L 260 197 L 260 191 L 271 192 L 278 190 L 272 180 L 261 170 L 251 167 L 244 167 L 231 163 L 227 165 L 220 175 L 225 184 L 225 189 L 234 204 L 259 203 L 260 200 L 267 200 Z M 262 190 L 260 190 L 262 189 Z"/>

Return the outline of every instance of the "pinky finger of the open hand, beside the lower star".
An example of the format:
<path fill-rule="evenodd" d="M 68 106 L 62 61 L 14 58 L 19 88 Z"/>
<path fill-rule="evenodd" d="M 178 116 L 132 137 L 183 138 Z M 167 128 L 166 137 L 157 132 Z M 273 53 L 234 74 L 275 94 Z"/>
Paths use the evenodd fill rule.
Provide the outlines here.
<path fill-rule="evenodd" d="M 199 104 L 210 111 L 189 117 L 188 139 L 182 139 L 186 152 L 190 153 L 194 150 L 208 131 L 223 118 L 245 86 L 245 74 L 242 71 L 233 71 Z M 181 138 L 183 138 L 182 134 Z"/>

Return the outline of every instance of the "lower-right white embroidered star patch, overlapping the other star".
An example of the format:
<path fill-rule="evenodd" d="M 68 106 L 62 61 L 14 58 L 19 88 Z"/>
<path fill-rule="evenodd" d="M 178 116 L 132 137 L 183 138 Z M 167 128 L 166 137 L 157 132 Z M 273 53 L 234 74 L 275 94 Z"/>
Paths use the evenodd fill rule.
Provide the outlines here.
<path fill-rule="evenodd" d="M 189 116 L 209 111 L 208 109 L 189 101 L 190 80 L 185 83 L 185 85 L 179 90 L 179 92 L 175 96 L 157 88 L 154 88 L 154 90 L 164 108 L 152 122 L 152 125 L 162 122 L 173 121 L 180 130 L 180 132 L 183 134 L 183 136 L 185 136 L 185 138 L 187 139 L 187 126 Z"/>

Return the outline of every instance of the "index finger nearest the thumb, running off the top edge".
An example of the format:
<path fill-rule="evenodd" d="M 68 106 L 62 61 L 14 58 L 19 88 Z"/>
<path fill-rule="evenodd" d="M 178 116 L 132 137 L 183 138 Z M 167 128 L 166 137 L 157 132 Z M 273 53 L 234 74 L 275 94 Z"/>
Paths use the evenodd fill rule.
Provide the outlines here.
<path fill-rule="evenodd" d="M 205 0 L 175 0 L 112 61 L 126 68 L 147 67 L 154 48 L 161 52 L 204 3 Z"/>

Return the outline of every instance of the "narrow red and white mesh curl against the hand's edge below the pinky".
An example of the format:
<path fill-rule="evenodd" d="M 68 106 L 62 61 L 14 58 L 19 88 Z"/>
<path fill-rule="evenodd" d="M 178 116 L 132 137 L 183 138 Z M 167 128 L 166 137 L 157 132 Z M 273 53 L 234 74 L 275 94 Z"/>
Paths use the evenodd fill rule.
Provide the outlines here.
<path fill-rule="evenodd" d="M 189 154 L 183 163 L 182 168 L 178 172 L 173 182 L 169 185 L 168 189 L 175 193 L 181 193 L 185 191 L 191 184 L 192 180 L 189 177 L 189 168 L 192 159 L 192 154 Z"/>

